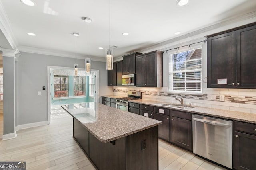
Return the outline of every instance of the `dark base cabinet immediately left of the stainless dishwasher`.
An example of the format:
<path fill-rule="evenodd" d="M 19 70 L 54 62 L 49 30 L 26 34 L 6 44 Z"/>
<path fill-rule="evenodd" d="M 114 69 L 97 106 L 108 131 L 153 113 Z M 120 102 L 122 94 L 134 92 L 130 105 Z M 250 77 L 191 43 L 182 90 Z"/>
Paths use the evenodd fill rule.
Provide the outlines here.
<path fill-rule="evenodd" d="M 192 114 L 171 110 L 170 141 L 192 151 Z"/>

